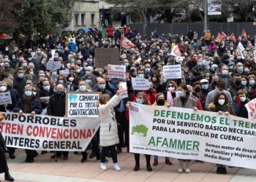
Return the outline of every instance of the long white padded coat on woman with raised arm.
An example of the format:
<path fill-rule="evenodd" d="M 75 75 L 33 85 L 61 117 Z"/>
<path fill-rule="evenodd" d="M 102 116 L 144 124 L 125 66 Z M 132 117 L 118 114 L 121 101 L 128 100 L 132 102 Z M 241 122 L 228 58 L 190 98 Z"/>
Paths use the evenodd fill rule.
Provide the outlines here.
<path fill-rule="evenodd" d="M 100 146 L 113 146 L 119 143 L 116 115 L 113 108 L 118 105 L 120 100 L 120 96 L 114 95 L 108 103 L 99 105 L 98 107 L 100 120 Z"/>

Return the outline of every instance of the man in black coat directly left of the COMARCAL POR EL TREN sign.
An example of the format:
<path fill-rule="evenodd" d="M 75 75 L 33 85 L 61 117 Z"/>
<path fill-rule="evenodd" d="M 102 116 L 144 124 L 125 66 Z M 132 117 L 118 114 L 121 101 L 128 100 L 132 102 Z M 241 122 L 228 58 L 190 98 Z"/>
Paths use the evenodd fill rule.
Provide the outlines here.
<path fill-rule="evenodd" d="M 64 92 L 64 86 L 62 84 L 58 84 L 56 86 L 56 93 L 52 97 L 50 97 L 49 105 L 47 108 L 47 114 L 49 116 L 63 117 L 65 115 L 65 99 L 66 95 Z M 61 155 L 63 155 L 63 159 L 67 160 L 68 154 L 68 151 L 56 151 L 56 154 L 53 154 L 53 156 L 51 156 L 50 159 L 60 158 Z"/>

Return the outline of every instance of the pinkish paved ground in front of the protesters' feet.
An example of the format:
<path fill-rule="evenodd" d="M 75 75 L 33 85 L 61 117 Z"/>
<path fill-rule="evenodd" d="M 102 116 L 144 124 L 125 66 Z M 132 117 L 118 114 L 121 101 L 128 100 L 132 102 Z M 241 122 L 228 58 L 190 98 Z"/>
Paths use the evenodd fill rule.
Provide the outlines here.
<path fill-rule="evenodd" d="M 107 164 L 108 170 L 103 172 L 99 168 L 99 162 L 89 159 L 89 162 L 80 163 L 80 155 L 70 153 L 69 160 L 59 159 L 55 162 L 50 159 L 52 153 L 41 155 L 35 158 L 34 163 L 25 163 L 25 153 L 18 149 L 15 153 L 16 159 L 8 159 L 10 173 L 15 181 L 231 181 L 244 182 L 256 181 L 256 170 L 227 168 L 227 175 L 217 175 L 216 167 L 211 163 L 193 162 L 192 173 L 178 174 L 178 162 L 173 159 L 173 165 L 165 165 L 164 158 L 159 157 L 159 165 L 153 167 L 152 172 L 146 171 L 146 160 L 142 156 L 140 159 L 140 171 L 134 172 L 132 169 L 135 161 L 132 154 L 118 154 L 118 162 L 121 172 L 113 170 L 113 163 Z M 153 161 L 153 159 L 151 159 Z M 0 180 L 4 180 L 4 174 L 0 175 Z"/>

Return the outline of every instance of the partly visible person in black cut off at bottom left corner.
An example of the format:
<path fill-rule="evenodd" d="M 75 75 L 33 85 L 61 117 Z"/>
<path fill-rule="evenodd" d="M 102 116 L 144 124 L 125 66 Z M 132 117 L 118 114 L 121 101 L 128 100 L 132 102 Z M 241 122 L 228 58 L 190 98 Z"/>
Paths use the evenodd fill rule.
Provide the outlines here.
<path fill-rule="evenodd" d="M 0 122 L 2 119 L 3 119 L 3 115 L 1 115 Z M 1 129 L 1 125 L 0 125 L 0 129 Z M 12 178 L 12 176 L 9 173 L 9 169 L 7 166 L 7 158 L 5 156 L 5 150 L 6 150 L 6 146 L 5 146 L 4 138 L 0 132 L 0 161 L 1 161 L 0 173 L 4 173 L 5 181 L 14 181 L 14 178 Z"/>

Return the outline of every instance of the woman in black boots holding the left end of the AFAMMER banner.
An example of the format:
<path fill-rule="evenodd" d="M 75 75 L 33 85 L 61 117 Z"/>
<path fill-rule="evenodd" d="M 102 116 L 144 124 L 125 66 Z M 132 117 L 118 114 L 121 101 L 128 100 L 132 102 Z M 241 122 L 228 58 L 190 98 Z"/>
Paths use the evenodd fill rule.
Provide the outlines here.
<path fill-rule="evenodd" d="M 148 98 L 146 96 L 145 93 L 143 92 L 138 92 L 138 94 L 136 95 L 136 98 L 133 97 L 131 95 L 131 101 L 135 101 L 136 103 L 140 103 L 140 104 L 146 104 L 146 105 L 150 105 Z M 127 103 L 127 120 L 129 120 L 129 102 Z M 140 154 L 134 154 L 135 156 L 135 167 L 134 167 L 134 171 L 138 171 L 140 170 Z M 150 155 L 145 154 L 146 157 L 146 168 L 148 171 L 152 171 L 151 165 L 150 165 Z"/>

